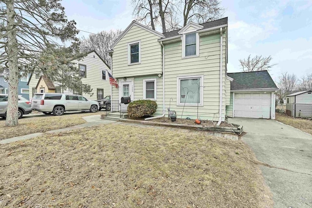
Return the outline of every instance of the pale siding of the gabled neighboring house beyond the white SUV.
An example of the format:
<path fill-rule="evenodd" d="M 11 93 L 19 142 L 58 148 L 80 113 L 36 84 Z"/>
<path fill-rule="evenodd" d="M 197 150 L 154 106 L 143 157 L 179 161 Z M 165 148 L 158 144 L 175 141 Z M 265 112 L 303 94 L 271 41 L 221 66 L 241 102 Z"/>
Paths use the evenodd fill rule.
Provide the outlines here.
<path fill-rule="evenodd" d="M 83 96 L 89 100 L 97 99 L 97 89 L 103 89 L 103 96 L 111 94 L 111 85 L 109 84 L 109 76 L 106 73 L 106 80 L 102 80 L 102 70 L 109 70 L 109 68 L 104 64 L 104 62 L 98 57 L 94 52 L 88 54 L 82 59 L 72 61 L 76 67 L 78 64 L 83 64 L 87 66 L 86 72 L 87 77 L 81 79 L 83 84 L 89 84 L 92 88 L 93 95 L 83 93 Z"/>

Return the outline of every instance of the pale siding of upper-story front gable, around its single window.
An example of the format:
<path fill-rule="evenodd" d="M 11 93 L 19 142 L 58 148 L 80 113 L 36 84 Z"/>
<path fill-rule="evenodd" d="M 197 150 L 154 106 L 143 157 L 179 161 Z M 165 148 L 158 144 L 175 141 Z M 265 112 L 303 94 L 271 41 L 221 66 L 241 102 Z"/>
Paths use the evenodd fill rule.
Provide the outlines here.
<path fill-rule="evenodd" d="M 158 39 L 153 33 L 133 25 L 113 48 L 113 76 L 121 78 L 161 74 L 162 54 Z M 128 43 L 138 40 L 141 62 L 129 65 Z"/>

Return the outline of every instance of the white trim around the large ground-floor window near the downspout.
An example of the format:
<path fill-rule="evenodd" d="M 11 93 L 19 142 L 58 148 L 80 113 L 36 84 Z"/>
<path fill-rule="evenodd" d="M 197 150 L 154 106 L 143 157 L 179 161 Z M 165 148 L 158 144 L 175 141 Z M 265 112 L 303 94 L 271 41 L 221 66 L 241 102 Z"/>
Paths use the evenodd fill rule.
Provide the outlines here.
<path fill-rule="evenodd" d="M 204 86 L 204 76 L 203 75 L 194 75 L 194 76 L 177 76 L 176 77 L 176 105 L 184 106 L 184 103 L 180 102 L 180 80 L 181 79 L 191 79 L 191 78 L 200 78 L 200 86 Z M 200 89 L 200 99 L 198 106 L 204 106 L 204 88 Z M 197 106 L 197 103 L 185 103 L 185 106 Z"/>

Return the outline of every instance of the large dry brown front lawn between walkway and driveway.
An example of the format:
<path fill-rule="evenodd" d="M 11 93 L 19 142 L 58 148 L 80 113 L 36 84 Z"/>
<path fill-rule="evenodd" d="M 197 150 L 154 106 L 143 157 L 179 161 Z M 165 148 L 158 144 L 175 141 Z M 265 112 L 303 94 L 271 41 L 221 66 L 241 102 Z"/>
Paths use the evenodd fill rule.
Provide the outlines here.
<path fill-rule="evenodd" d="M 260 173 L 242 141 L 110 124 L 0 146 L 0 207 L 272 207 Z"/>

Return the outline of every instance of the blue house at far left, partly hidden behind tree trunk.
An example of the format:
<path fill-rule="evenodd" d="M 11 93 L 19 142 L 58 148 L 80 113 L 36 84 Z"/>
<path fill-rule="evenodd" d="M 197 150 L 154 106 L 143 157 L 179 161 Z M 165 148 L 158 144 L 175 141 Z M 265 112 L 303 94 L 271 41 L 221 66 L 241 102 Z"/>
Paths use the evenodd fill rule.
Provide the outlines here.
<path fill-rule="evenodd" d="M 0 94 L 8 94 L 8 89 L 9 89 L 9 82 L 5 78 L 7 76 L 8 71 L 7 69 L 2 69 L 0 70 Z M 22 95 L 24 98 L 29 100 L 29 90 L 27 86 L 27 82 L 29 80 L 29 75 L 27 76 L 22 76 L 19 79 L 19 86 L 18 86 L 18 93 L 19 95 Z"/>

